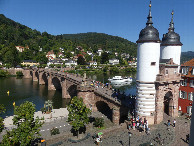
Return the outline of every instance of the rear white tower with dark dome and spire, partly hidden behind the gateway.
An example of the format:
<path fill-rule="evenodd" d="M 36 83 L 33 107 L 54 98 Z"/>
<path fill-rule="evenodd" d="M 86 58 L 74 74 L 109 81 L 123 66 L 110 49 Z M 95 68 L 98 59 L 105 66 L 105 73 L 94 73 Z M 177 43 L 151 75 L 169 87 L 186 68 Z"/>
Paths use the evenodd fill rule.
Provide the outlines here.
<path fill-rule="evenodd" d="M 162 43 L 161 43 L 161 59 L 170 59 L 173 58 L 173 62 L 175 64 L 180 65 L 180 56 L 181 56 L 181 46 L 179 34 L 174 32 L 174 22 L 173 22 L 173 14 L 170 22 L 170 26 L 168 28 L 168 33 L 163 35 Z"/>

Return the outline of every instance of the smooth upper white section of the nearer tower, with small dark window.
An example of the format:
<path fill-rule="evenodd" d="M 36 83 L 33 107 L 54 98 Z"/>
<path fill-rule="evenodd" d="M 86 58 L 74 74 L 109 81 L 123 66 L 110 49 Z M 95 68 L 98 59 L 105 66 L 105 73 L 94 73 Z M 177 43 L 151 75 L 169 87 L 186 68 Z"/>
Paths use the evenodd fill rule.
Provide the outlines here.
<path fill-rule="evenodd" d="M 159 73 L 160 43 L 138 43 L 137 80 L 155 82 Z"/>

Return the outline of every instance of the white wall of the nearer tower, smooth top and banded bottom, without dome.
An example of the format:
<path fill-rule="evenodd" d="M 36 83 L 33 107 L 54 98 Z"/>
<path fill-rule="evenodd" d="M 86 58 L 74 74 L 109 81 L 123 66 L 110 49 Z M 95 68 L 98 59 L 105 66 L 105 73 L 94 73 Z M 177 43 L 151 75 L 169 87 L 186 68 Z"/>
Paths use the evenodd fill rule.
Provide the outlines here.
<path fill-rule="evenodd" d="M 159 73 L 160 43 L 138 43 L 136 113 L 151 116 L 155 111 L 155 84 Z"/>

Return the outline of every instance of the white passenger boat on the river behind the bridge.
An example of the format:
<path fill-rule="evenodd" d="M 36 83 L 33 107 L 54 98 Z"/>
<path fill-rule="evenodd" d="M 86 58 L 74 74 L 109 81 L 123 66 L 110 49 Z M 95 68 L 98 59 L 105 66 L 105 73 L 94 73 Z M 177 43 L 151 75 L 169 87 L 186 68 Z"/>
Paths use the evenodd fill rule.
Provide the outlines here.
<path fill-rule="evenodd" d="M 108 79 L 111 84 L 128 84 L 129 82 L 132 82 L 131 77 L 122 77 L 122 76 L 114 76 L 112 79 Z"/>

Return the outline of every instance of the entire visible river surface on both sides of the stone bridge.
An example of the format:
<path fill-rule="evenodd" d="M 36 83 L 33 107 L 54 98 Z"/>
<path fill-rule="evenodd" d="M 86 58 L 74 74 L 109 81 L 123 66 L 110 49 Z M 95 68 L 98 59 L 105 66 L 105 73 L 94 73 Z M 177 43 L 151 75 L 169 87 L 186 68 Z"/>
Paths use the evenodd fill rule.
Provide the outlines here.
<path fill-rule="evenodd" d="M 88 77 L 106 83 L 108 82 L 108 78 L 113 76 L 115 75 L 98 74 Z M 135 74 L 125 74 L 125 76 L 135 78 Z M 119 89 L 121 93 L 124 91 L 126 95 L 136 94 L 134 81 L 131 85 L 116 88 Z M 9 96 L 7 91 L 9 91 Z M 47 85 L 39 85 L 38 82 L 33 82 L 32 79 L 16 77 L 0 78 L 0 104 L 4 104 L 6 108 L 6 112 L 2 114 L 3 117 L 13 115 L 13 102 L 15 102 L 16 106 L 24 101 L 33 102 L 36 105 L 37 111 L 44 107 L 46 100 L 52 100 L 53 108 L 55 109 L 66 107 L 69 99 L 62 99 L 61 97 L 61 90 L 48 91 Z"/>

